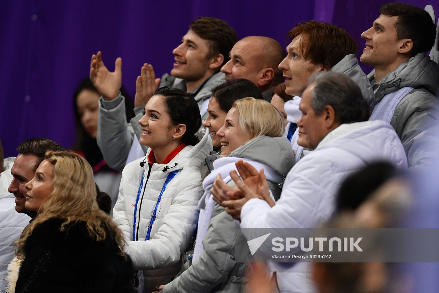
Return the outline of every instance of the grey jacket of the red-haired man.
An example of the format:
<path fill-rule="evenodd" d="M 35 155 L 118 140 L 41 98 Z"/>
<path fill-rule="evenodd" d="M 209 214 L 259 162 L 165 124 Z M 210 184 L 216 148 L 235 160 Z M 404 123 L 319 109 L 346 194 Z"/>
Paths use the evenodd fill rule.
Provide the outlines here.
<path fill-rule="evenodd" d="M 367 79 L 366 74 L 361 69 L 358 64 L 358 60 L 355 57 L 355 54 L 346 55 L 345 58 L 340 60 L 337 64 L 335 64 L 331 71 L 337 73 L 343 73 L 353 79 L 353 81 L 358 84 L 361 89 L 361 93 L 363 94 L 364 99 L 366 99 L 367 105 L 369 106 L 369 110 L 373 110 L 375 103 L 375 95 L 372 89 L 371 83 Z"/>

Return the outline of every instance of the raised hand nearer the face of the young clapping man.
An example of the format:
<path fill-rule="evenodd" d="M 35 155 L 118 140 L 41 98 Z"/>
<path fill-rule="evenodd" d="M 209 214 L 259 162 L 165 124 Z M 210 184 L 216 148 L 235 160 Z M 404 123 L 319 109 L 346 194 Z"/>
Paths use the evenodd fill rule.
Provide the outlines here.
<path fill-rule="evenodd" d="M 140 70 L 140 76 L 136 80 L 134 107 L 146 105 L 154 95 L 159 84 L 160 78 L 155 78 L 154 68 L 151 64 L 145 63 Z"/>

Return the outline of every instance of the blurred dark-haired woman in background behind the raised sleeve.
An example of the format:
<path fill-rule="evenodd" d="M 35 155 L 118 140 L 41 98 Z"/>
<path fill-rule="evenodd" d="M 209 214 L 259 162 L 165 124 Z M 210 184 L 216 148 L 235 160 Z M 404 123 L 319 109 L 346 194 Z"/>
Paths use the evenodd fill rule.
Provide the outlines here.
<path fill-rule="evenodd" d="M 126 118 L 128 121 L 134 117 L 133 103 L 128 93 L 121 88 L 125 98 Z M 78 85 L 73 95 L 73 108 L 76 120 L 76 143 L 73 150 L 81 154 L 93 168 L 94 180 L 99 188 L 108 193 L 112 199 L 112 208 L 116 203 L 119 192 L 121 173 L 110 168 L 97 146 L 97 110 L 99 95 L 90 78 L 85 78 Z"/>

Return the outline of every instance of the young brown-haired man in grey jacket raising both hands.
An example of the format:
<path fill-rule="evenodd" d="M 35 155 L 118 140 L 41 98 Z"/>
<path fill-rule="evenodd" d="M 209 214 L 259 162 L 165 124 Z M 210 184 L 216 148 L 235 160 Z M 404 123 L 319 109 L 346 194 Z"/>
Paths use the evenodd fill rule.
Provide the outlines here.
<path fill-rule="evenodd" d="M 127 125 L 124 97 L 120 95 L 122 84 L 122 59 L 115 62 L 115 71 L 109 72 L 102 62 L 102 54 L 92 56 L 90 79 L 102 95 L 99 102 L 97 144 L 107 164 L 120 170 L 127 158 L 133 160 L 146 153 L 140 146 L 140 126 L 137 121 L 158 87 L 183 89 L 194 97 L 202 117 L 207 114 L 210 88 L 223 83 L 224 73 L 219 72 L 229 60 L 229 51 L 236 43 L 236 32 L 226 22 L 212 17 L 201 17 L 192 22 L 189 31 L 182 37 L 181 44 L 173 50 L 175 56 L 171 75 L 155 78 L 151 64 L 145 63 L 136 81 L 134 113 L 136 116 Z"/>

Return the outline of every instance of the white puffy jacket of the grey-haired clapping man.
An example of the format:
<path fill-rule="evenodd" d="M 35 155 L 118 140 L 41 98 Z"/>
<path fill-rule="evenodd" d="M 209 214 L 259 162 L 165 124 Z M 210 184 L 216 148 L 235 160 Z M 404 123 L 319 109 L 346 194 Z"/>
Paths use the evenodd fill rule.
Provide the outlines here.
<path fill-rule="evenodd" d="M 389 124 L 366 121 L 340 125 L 291 168 L 273 208 L 260 199 L 245 203 L 241 228 L 317 228 L 333 214 L 342 181 L 378 160 L 407 168 L 404 148 Z M 260 236 L 253 233 L 258 232 L 243 231 L 247 240 Z M 281 292 L 316 292 L 311 269 L 311 263 L 270 263 Z"/>

